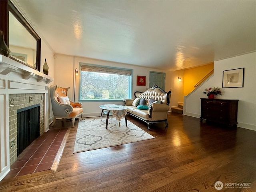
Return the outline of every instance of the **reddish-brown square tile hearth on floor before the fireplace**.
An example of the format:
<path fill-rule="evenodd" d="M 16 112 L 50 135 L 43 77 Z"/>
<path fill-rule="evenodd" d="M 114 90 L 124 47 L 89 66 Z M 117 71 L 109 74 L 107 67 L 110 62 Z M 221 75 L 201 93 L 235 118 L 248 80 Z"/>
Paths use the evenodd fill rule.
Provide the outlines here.
<path fill-rule="evenodd" d="M 18 156 L 16 162 L 10 167 L 10 172 L 4 178 L 12 178 L 51 169 L 67 130 L 54 130 L 52 128 L 34 140 Z"/>

